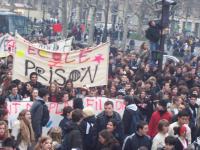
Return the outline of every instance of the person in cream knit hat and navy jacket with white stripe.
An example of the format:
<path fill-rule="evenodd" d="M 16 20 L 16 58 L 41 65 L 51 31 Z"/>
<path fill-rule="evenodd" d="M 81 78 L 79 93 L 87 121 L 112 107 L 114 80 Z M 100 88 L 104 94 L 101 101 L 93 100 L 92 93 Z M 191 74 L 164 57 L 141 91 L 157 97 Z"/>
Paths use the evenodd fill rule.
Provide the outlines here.
<path fill-rule="evenodd" d="M 83 121 L 80 124 L 83 138 L 83 150 L 93 150 L 95 146 L 94 123 L 96 121 L 95 112 L 92 107 L 83 109 Z"/>

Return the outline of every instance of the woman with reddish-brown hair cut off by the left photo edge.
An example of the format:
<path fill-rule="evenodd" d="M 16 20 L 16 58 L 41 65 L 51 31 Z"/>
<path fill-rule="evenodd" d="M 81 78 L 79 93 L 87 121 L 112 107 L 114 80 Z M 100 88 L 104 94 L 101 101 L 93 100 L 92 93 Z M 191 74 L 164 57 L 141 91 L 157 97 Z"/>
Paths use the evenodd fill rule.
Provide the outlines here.
<path fill-rule="evenodd" d="M 3 146 L 3 142 L 9 137 L 8 125 L 5 121 L 0 121 L 0 148 Z"/>

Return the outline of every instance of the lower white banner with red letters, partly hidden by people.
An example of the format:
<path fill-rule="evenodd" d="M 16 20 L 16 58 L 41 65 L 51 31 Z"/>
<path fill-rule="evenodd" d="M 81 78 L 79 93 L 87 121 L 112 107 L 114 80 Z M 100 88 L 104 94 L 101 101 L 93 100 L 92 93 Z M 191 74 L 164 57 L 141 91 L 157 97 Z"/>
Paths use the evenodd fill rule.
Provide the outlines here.
<path fill-rule="evenodd" d="M 114 104 L 114 110 L 118 112 L 121 116 L 123 115 L 124 111 L 124 104 L 123 100 L 119 99 L 109 99 L 105 97 L 86 97 L 83 99 L 84 107 L 92 107 L 97 114 L 104 110 L 104 103 L 106 101 L 112 101 Z M 12 127 L 13 122 L 16 120 L 18 114 L 23 109 L 30 110 L 33 102 L 8 102 L 7 108 L 9 111 L 9 122 L 11 123 L 9 126 Z M 49 112 L 50 112 L 50 120 L 47 123 L 46 127 L 44 128 L 44 133 L 46 133 L 51 127 L 59 126 L 61 119 L 62 109 L 65 106 L 72 106 L 72 101 L 66 103 L 55 103 L 55 102 L 48 102 L 47 103 Z"/>

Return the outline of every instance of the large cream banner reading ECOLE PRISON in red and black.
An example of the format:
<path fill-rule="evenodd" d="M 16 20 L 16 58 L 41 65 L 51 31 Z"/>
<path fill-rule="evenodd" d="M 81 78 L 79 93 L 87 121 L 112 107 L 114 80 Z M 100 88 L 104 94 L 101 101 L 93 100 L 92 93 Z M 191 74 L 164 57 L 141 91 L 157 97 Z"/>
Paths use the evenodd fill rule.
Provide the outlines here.
<path fill-rule="evenodd" d="M 70 52 L 51 52 L 34 47 L 16 37 L 13 79 L 29 80 L 31 72 L 38 73 L 44 85 L 55 81 L 64 86 L 68 79 L 74 87 L 107 85 L 109 44 Z"/>

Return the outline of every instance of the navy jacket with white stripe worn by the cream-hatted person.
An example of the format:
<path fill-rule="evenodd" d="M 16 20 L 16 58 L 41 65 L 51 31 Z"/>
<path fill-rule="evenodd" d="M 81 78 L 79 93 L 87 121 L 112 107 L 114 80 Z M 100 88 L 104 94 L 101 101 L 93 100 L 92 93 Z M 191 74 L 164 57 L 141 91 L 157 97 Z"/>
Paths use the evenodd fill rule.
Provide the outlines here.
<path fill-rule="evenodd" d="M 83 139 L 83 150 L 93 150 L 95 147 L 95 121 L 95 116 L 90 116 L 85 118 L 80 124 Z"/>

